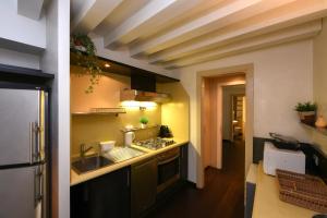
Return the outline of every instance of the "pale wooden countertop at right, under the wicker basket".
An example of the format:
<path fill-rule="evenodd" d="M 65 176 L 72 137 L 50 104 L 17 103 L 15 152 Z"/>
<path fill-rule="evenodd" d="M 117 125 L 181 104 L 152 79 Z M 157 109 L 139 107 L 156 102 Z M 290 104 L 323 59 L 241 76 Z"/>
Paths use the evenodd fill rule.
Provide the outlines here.
<path fill-rule="evenodd" d="M 262 162 L 258 165 L 252 218 L 312 218 L 316 214 L 280 201 L 277 179 L 265 174 Z"/>

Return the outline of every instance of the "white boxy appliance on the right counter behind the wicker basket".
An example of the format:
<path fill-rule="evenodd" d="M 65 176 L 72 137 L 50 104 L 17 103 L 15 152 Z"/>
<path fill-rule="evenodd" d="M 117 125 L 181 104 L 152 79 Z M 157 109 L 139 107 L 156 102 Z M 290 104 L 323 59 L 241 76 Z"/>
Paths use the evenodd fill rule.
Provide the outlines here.
<path fill-rule="evenodd" d="M 276 169 L 305 173 L 305 155 L 301 150 L 279 149 L 270 142 L 265 142 L 264 172 L 276 175 Z"/>

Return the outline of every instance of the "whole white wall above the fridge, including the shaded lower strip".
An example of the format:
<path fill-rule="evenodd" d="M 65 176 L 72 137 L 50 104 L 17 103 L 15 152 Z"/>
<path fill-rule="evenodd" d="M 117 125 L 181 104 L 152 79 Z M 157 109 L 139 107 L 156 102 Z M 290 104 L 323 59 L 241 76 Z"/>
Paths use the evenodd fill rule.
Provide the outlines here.
<path fill-rule="evenodd" d="M 39 69 L 46 49 L 46 16 L 32 20 L 17 14 L 17 0 L 0 2 L 0 63 Z"/>

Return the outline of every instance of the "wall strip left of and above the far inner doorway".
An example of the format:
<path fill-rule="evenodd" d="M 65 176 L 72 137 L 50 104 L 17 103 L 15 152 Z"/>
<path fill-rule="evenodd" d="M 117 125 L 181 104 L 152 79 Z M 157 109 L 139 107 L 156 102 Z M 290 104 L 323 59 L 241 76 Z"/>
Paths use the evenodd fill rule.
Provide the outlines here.
<path fill-rule="evenodd" d="M 225 86 L 222 88 L 222 140 L 232 141 L 231 121 L 232 121 L 232 96 L 245 95 L 245 86 Z"/>

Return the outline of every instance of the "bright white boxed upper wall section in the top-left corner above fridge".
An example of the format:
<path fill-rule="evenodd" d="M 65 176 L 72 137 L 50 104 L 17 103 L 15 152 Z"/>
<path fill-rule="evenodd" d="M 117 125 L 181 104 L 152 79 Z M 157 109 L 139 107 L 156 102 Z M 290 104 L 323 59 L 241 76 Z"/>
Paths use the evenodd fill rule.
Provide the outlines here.
<path fill-rule="evenodd" d="M 46 16 L 38 21 L 22 16 L 17 14 L 17 0 L 5 0 L 0 2 L 0 39 L 46 48 Z"/>

